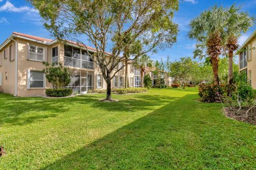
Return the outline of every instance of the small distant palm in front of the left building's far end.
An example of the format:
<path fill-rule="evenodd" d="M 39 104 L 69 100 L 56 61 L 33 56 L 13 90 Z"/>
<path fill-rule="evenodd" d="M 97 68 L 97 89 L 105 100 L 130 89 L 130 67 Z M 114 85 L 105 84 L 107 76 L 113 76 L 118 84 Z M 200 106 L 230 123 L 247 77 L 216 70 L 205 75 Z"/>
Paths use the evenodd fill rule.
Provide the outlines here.
<path fill-rule="evenodd" d="M 141 87 L 144 87 L 143 82 L 143 74 L 145 71 L 146 66 L 153 67 L 153 60 L 150 59 L 148 55 L 142 55 L 137 60 L 134 61 L 134 66 L 138 67 L 140 69 L 140 77 L 141 77 Z"/>

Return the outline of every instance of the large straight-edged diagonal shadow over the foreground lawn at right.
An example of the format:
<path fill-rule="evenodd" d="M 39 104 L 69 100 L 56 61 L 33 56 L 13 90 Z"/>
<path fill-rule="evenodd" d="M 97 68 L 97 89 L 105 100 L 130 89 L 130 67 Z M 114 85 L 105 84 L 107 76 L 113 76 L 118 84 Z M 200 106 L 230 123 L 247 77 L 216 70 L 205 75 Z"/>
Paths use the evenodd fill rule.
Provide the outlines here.
<path fill-rule="evenodd" d="M 171 101 L 41 169 L 214 169 L 234 167 L 232 163 L 244 159 L 250 162 L 253 150 L 244 142 L 239 147 L 246 150 L 245 154 L 236 156 L 231 163 L 227 161 L 230 149 L 236 155 L 241 152 L 237 143 L 232 146 L 230 134 L 225 133 L 234 131 L 237 125 L 228 126 L 228 120 L 228 125 L 221 127 L 223 121 L 218 116 L 209 121 L 205 115 L 212 114 L 211 108 L 194 103 L 195 98 L 197 95 L 186 95 Z M 221 128 L 216 129 L 218 126 Z"/>

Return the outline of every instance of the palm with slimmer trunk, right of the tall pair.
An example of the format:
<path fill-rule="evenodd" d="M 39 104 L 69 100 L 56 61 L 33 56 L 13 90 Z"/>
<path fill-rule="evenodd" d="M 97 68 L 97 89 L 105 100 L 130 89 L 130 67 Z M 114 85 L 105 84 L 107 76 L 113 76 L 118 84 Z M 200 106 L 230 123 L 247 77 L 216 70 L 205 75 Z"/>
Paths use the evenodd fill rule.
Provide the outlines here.
<path fill-rule="evenodd" d="M 238 49 L 238 39 L 242 33 L 246 33 L 250 27 L 253 26 L 254 19 L 246 12 L 241 12 L 241 7 L 232 5 L 226 11 L 226 43 L 225 52 L 228 53 L 228 83 L 233 83 L 233 55 L 234 51 Z M 251 50 L 251 49 L 248 49 Z"/>

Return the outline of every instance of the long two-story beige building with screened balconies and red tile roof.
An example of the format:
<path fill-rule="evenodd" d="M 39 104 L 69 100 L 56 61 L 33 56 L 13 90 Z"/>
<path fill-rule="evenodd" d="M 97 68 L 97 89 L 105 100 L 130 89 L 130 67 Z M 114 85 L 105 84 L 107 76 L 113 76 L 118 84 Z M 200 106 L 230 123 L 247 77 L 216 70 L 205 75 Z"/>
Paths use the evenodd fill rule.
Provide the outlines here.
<path fill-rule="evenodd" d="M 0 92 L 14 96 L 41 96 L 51 88 L 44 73 L 43 61 L 61 62 L 69 67 L 72 75 L 67 88 L 78 94 L 90 89 L 106 89 L 99 67 L 91 60 L 95 49 L 73 41 L 65 44 L 58 40 L 13 32 L 0 46 Z M 91 54 L 87 54 L 87 51 Z M 110 56 L 110 53 L 106 53 Z M 124 87 L 124 70 L 112 80 L 113 88 Z M 141 86 L 140 69 L 131 63 L 128 66 L 130 87 Z"/>

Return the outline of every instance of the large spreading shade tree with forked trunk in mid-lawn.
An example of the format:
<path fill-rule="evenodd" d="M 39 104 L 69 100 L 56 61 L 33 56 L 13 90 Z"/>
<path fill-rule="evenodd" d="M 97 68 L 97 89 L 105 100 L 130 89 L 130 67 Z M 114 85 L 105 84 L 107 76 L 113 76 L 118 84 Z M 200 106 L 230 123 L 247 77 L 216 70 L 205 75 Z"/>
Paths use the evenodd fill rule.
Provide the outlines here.
<path fill-rule="evenodd" d="M 178 0 L 30 0 L 42 16 L 44 26 L 62 41 L 79 41 L 84 36 L 95 47 L 92 59 L 99 66 L 107 83 L 107 98 L 111 100 L 111 79 L 125 65 L 121 56 L 135 41 L 142 48 L 130 60 L 150 51 L 170 47 L 177 37 L 178 27 L 173 23 Z M 79 43 L 82 43 L 81 41 Z M 111 55 L 106 57 L 109 47 Z"/>

